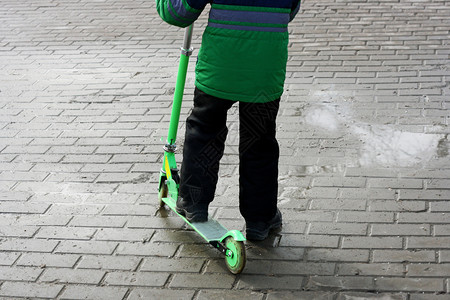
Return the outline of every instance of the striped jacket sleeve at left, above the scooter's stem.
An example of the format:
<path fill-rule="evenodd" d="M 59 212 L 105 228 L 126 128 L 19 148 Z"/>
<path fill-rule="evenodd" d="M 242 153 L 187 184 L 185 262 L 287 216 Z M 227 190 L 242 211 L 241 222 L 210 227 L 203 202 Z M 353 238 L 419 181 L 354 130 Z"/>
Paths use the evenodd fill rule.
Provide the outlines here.
<path fill-rule="evenodd" d="M 206 0 L 156 0 L 156 10 L 167 23 L 187 27 L 197 20 L 206 3 Z"/>

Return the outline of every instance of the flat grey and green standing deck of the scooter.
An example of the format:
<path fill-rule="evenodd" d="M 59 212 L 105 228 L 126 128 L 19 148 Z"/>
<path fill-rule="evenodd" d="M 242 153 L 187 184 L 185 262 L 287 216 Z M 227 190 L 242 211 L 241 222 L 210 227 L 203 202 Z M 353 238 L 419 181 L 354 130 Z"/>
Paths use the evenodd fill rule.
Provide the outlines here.
<path fill-rule="evenodd" d="M 208 217 L 207 222 L 189 222 L 184 216 L 177 213 L 176 201 L 170 197 L 163 198 L 162 201 L 167 204 L 177 215 L 179 215 L 189 226 L 192 227 L 198 234 L 200 234 L 208 242 L 220 241 L 228 230 L 223 227 L 217 220 Z"/>

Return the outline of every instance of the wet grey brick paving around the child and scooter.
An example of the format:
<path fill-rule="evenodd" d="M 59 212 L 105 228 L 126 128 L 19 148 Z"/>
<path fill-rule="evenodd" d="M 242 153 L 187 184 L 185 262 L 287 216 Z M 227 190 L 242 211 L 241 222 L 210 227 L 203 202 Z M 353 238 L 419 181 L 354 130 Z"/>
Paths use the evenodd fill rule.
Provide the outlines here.
<path fill-rule="evenodd" d="M 0 1 L 1 299 L 450 299 L 450 1 L 304 1 L 285 225 L 240 276 L 158 211 L 183 31 L 154 6 Z M 211 213 L 243 229 L 235 113 Z"/>

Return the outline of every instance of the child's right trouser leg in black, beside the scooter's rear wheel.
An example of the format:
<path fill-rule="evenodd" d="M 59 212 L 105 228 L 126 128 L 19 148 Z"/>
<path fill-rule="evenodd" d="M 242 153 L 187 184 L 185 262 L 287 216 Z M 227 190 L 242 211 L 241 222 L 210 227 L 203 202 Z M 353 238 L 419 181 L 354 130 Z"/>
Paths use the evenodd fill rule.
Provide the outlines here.
<path fill-rule="evenodd" d="M 279 105 L 279 99 L 239 103 L 239 200 L 247 222 L 266 222 L 277 213 L 279 147 L 275 134 Z"/>

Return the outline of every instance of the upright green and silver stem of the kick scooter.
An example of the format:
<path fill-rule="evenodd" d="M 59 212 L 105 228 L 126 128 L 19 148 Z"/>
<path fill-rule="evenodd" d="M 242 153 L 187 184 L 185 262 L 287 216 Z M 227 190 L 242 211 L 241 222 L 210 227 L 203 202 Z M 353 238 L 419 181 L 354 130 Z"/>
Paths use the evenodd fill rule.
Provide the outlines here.
<path fill-rule="evenodd" d="M 191 48 L 192 32 L 194 24 L 186 28 L 184 32 L 183 47 L 181 47 L 180 63 L 178 65 L 177 83 L 173 97 L 172 113 L 170 115 L 169 133 L 167 135 L 166 148 L 174 148 L 177 138 L 178 122 L 180 120 L 181 102 L 183 101 L 184 86 L 186 83 L 186 73 L 193 49 Z M 170 149 L 174 150 L 174 149 Z"/>

